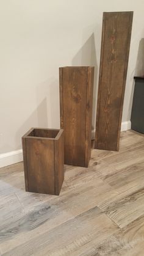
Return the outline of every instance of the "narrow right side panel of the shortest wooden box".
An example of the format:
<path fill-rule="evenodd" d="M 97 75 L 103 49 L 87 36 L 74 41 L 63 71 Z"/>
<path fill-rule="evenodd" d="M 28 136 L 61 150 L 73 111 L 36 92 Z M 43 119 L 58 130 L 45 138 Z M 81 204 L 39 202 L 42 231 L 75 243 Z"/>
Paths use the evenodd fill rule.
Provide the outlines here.
<path fill-rule="evenodd" d="M 58 140 L 54 141 L 54 161 L 55 161 L 55 194 L 59 196 L 64 179 L 64 144 L 63 132 Z"/>

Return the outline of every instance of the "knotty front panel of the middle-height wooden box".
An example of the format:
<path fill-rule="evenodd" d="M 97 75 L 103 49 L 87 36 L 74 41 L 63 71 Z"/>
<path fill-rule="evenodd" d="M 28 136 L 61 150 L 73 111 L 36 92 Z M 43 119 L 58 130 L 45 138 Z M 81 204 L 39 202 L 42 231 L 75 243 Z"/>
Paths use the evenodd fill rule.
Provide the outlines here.
<path fill-rule="evenodd" d="M 62 68 L 60 90 L 65 164 L 85 166 L 87 67 Z"/>

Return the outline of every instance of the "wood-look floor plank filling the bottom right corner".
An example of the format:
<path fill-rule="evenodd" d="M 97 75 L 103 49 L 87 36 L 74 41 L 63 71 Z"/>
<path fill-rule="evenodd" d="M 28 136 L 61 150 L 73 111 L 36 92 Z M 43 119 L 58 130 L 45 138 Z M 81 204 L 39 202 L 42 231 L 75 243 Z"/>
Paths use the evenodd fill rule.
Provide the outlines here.
<path fill-rule="evenodd" d="M 93 248 L 99 255 L 143 255 L 144 216 L 136 219 L 123 229 L 109 236 Z"/>

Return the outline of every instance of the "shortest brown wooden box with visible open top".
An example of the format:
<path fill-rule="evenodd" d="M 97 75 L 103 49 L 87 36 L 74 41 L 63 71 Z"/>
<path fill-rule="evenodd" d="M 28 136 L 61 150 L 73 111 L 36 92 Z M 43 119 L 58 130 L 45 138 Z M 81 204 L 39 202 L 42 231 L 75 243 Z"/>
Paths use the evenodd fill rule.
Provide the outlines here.
<path fill-rule="evenodd" d="M 63 130 L 32 128 L 22 137 L 26 191 L 59 195 L 63 171 Z"/>

